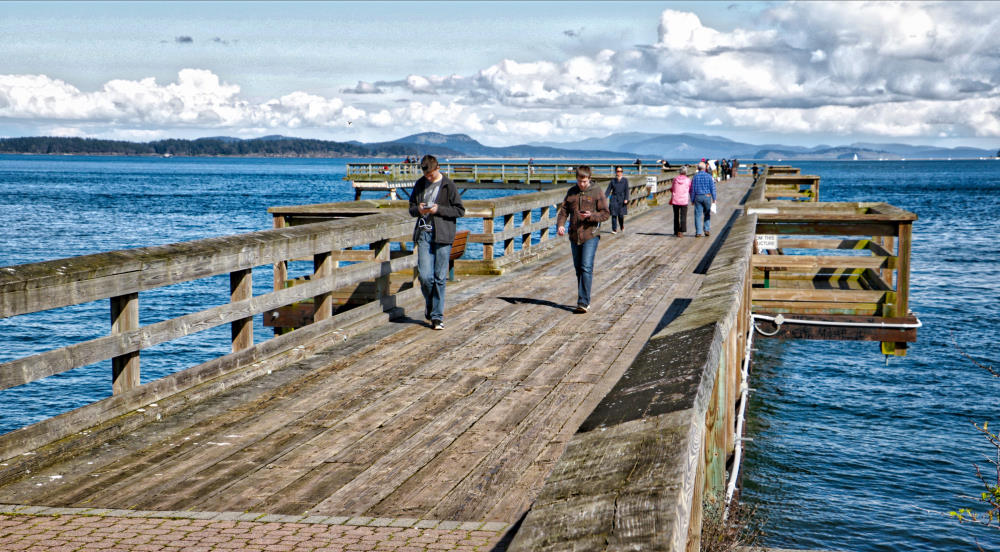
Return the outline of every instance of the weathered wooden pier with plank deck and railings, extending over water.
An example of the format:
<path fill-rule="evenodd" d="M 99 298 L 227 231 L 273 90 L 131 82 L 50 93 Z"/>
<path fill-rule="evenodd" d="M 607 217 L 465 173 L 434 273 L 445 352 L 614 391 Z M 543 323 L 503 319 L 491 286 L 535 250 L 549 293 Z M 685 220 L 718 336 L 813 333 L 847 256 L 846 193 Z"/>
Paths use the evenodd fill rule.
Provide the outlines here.
<path fill-rule="evenodd" d="M 772 300 L 754 293 L 763 271 L 770 283 L 787 268 L 756 265 L 761 225 L 790 216 L 764 199 L 766 176 L 720 183 L 711 238 L 674 237 L 662 188 L 633 188 L 627 230 L 602 237 L 585 315 L 572 313 L 551 191 L 468 202 L 483 259 L 456 267 L 443 332 L 421 319 L 416 287 L 390 285 L 416 265 L 396 202 L 274 208 L 271 230 L 0 269 L 0 317 L 98 300 L 112 313 L 106 337 L 0 364 L 0 388 L 111 360 L 113 392 L 0 436 L 0 517 L 492 523 L 510 550 L 697 550 L 703 503 L 738 471 L 752 315 Z M 885 251 L 904 223 L 893 216 L 863 221 Z M 895 296 L 882 290 L 896 310 L 872 316 L 905 308 L 909 242 L 895 247 L 867 249 L 892 261 L 850 267 L 896 270 Z M 275 289 L 252 296 L 265 265 Z M 229 303 L 146 326 L 134 315 L 146 290 L 219 274 Z M 365 282 L 372 301 L 336 305 L 336 290 Z M 306 300 L 311 323 L 254 339 L 252 317 Z M 230 354 L 137 385 L 143 349 L 221 324 Z"/>

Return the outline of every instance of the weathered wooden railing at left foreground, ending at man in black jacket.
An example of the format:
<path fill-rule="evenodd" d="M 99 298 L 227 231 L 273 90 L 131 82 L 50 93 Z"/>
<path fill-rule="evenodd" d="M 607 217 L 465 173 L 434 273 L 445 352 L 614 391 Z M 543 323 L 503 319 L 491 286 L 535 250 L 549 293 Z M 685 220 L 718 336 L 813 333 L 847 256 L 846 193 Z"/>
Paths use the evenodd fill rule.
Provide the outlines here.
<path fill-rule="evenodd" d="M 0 458 L 9 458 L 60 435 L 71 434 L 124 414 L 137 405 L 174 394 L 236 369 L 256 364 L 293 348 L 312 349 L 338 324 L 374 313 L 389 311 L 399 301 L 419 291 L 407 290 L 389 296 L 383 287 L 380 300 L 367 309 L 329 318 L 329 293 L 358 282 L 385 281 L 395 271 L 416 266 L 408 251 L 390 252 L 392 238 L 413 226 L 404 213 L 380 213 L 364 219 L 327 221 L 296 228 L 281 228 L 210 238 L 172 245 L 99 253 L 0 269 L 0 318 L 77 305 L 108 301 L 110 334 L 82 343 L 46 351 L 0 364 L 0 389 L 35 381 L 112 360 L 110 402 L 50 418 L 0 438 Z M 368 251 L 353 248 L 363 246 Z M 350 266 L 334 266 L 349 257 Z M 392 258 L 391 258 L 392 257 Z M 313 259 L 315 270 L 309 281 L 260 296 L 251 294 L 252 270 L 268 264 L 281 265 L 291 259 Z M 229 274 L 230 302 L 146 326 L 138 319 L 143 292 Z M 416 295 L 414 295 L 416 296 Z M 252 319 L 272 309 L 306 298 L 314 298 L 320 309 L 317 323 L 309 331 L 293 332 L 254 344 Z M 323 323 L 324 319 L 325 322 Z M 232 328 L 232 353 L 198 367 L 139 386 L 139 361 L 143 349 L 215 326 Z M 255 368 L 256 369 L 256 368 Z M 252 370 L 251 370 L 252 371 Z M 104 404 L 101 404 L 104 402 Z M 124 424 L 122 427 L 129 427 Z"/>

